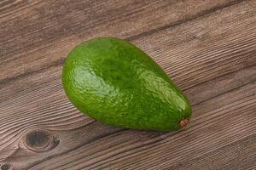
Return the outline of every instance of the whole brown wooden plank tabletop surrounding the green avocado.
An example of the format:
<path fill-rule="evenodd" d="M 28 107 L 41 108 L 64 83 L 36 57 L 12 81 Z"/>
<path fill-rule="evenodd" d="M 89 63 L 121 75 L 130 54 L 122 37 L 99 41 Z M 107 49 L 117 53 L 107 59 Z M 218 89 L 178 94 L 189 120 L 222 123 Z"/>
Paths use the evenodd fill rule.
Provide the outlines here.
<path fill-rule="evenodd" d="M 188 96 L 180 132 L 109 127 L 71 105 L 68 52 L 120 37 Z M 256 169 L 255 0 L 0 1 L 0 169 Z"/>

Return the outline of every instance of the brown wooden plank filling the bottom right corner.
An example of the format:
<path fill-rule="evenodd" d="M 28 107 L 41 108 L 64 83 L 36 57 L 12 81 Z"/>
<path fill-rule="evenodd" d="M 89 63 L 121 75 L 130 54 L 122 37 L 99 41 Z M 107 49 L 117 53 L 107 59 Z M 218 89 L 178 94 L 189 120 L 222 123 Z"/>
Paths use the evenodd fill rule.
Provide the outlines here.
<path fill-rule="evenodd" d="M 168 167 L 169 169 L 249 169 L 256 160 L 256 135 Z M 219 168 L 221 165 L 221 168 Z M 235 168 L 234 168 L 235 167 Z M 254 167 L 255 168 L 255 167 Z"/>

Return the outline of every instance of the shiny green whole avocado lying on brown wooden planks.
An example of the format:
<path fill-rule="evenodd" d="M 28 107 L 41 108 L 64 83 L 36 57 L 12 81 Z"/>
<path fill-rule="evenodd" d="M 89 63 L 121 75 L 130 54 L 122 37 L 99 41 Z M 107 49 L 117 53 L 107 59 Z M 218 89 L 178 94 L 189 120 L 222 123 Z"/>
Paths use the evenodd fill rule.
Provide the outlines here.
<path fill-rule="evenodd" d="M 98 37 L 73 48 L 62 83 L 75 107 L 113 126 L 171 131 L 191 116 L 189 100 L 165 71 L 118 38 Z"/>

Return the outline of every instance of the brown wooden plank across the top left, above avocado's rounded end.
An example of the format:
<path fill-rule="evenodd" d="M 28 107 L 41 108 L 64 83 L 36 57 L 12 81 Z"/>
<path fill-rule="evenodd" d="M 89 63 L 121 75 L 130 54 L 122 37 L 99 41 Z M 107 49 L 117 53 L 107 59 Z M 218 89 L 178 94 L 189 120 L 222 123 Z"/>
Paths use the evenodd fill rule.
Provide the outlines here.
<path fill-rule="evenodd" d="M 61 65 L 70 49 L 92 37 L 136 39 L 242 1 L 14 2 L 0 14 L 1 82 Z"/>

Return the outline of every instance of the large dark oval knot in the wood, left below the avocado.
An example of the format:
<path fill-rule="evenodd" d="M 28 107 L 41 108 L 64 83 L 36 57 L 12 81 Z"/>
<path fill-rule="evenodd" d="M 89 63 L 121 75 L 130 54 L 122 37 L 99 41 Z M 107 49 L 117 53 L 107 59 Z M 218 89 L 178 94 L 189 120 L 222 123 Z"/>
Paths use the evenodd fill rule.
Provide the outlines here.
<path fill-rule="evenodd" d="M 52 150 L 60 143 L 60 141 L 55 139 L 52 134 L 44 130 L 33 130 L 28 132 L 23 140 L 29 150 L 36 152 Z"/>

